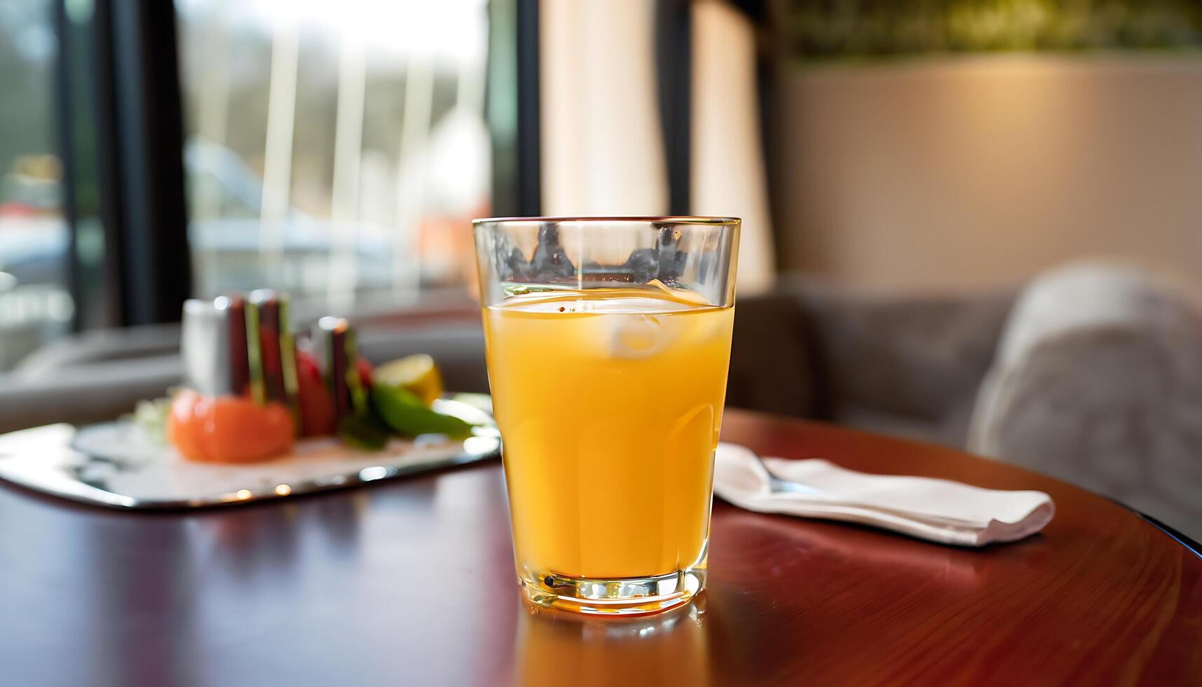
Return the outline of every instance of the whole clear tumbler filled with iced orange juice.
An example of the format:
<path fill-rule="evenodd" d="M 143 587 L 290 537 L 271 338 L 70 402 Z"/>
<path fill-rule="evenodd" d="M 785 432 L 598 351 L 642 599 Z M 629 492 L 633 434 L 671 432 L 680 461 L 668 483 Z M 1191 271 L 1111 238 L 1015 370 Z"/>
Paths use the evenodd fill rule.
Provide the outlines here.
<path fill-rule="evenodd" d="M 518 582 L 632 615 L 706 584 L 739 220 L 475 223 Z"/>

